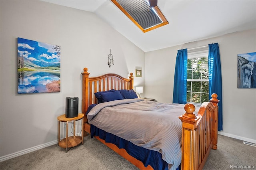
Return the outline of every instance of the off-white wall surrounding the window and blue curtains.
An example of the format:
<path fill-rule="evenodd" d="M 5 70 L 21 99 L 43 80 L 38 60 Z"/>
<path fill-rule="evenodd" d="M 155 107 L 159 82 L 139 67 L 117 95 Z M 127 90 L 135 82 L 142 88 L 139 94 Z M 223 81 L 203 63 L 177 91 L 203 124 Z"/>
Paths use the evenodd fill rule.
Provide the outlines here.
<path fill-rule="evenodd" d="M 222 65 L 223 131 L 220 134 L 256 143 L 256 89 L 237 88 L 237 55 L 256 52 L 255 29 L 146 52 L 145 96 L 172 103 L 177 50 L 216 42 Z"/>

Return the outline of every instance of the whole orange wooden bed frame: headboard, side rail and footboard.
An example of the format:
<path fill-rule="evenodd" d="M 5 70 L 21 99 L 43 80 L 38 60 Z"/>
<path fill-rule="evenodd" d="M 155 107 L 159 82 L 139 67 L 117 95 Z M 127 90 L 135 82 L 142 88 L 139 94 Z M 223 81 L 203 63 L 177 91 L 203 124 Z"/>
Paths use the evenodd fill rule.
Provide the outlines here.
<path fill-rule="evenodd" d="M 89 105 L 97 103 L 94 93 L 111 89 L 133 89 L 132 73 L 130 73 L 129 79 L 117 74 L 105 74 L 89 78 L 89 74 L 88 69 L 84 68 L 82 73 L 82 113 L 84 114 L 86 114 Z M 201 170 L 204 167 L 210 150 L 217 149 L 218 102 L 217 95 L 212 94 L 210 102 L 204 102 L 201 105 L 197 116 L 194 114 L 194 105 L 185 105 L 186 113 L 179 117 L 182 121 L 182 170 Z M 85 136 L 90 133 L 90 125 L 87 122 L 85 116 Z M 100 140 L 99 138 L 97 139 Z M 100 141 L 138 168 L 152 169 L 151 166 L 144 167 L 141 161 L 130 156 L 126 150 L 119 149 L 114 144 Z"/>

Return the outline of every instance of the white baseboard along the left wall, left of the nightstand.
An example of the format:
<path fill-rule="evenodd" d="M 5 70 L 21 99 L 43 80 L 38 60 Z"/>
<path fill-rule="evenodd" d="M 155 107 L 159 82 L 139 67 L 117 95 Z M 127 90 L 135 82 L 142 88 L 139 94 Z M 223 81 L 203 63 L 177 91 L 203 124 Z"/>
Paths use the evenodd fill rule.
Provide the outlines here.
<path fill-rule="evenodd" d="M 54 140 L 52 142 L 48 142 L 48 143 L 45 143 L 45 144 L 41 144 L 41 145 L 38 145 L 38 146 L 34 146 L 32 148 L 28 148 L 28 149 L 24 149 L 24 150 L 21 150 L 21 151 L 18 151 L 18 152 L 15 152 L 15 153 L 12 153 L 12 154 L 8 154 L 8 155 L 5 155 L 5 156 L 1 156 L 0 157 L 0 162 L 4 161 L 4 160 L 8 160 L 8 159 L 12 159 L 12 158 L 15 158 L 17 156 L 21 156 L 21 155 L 24 155 L 24 154 L 28 154 L 30 152 L 34 152 L 36 150 L 39 150 L 39 149 L 42 149 L 42 148 L 46 148 L 48 146 L 52 146 L 54 144 L 57 144 L 58 143 L 58 140 Z"/>

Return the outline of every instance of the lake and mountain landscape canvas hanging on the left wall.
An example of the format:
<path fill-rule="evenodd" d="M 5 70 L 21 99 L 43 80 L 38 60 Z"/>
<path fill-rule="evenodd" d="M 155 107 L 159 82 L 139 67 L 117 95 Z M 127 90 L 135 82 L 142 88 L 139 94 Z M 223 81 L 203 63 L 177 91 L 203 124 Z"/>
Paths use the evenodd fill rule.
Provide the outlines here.
<path fill-rule="evenodd" d="M 18 38 L 18 93 L 60 92 L 60 46 Z"/>

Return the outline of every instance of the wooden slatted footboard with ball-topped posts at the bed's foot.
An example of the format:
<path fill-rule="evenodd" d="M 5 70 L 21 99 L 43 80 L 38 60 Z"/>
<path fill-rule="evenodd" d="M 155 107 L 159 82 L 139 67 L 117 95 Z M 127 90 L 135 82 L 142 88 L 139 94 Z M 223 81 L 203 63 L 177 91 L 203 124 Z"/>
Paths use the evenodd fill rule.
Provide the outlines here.
<path fill-rule="evenodd" d="M 198 116 L 195 106 L 186 104 L 182 121 L 182 170 L 201 170 L 211 149 L 217 149 L 218 102 L 212 94 L 210 102 L 202 103 Z"/>

